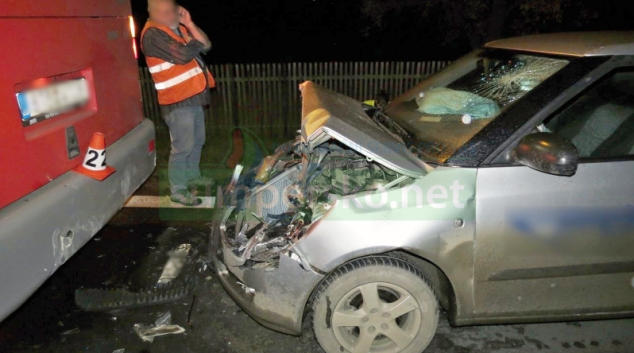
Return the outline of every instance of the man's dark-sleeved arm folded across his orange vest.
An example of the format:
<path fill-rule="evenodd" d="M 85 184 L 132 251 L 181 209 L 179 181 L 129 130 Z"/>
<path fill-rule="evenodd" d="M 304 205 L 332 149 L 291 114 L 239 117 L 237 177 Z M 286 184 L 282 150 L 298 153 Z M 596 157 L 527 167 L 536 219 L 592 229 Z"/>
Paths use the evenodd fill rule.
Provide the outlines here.
<path fill-rule="evenodd" d="M 203 52 L 203 44 L 198 40 L 191 40 L 183 45 L 158 28 L 148 29 L 143 36 L 145 56 L 159 58 L 173 64 L 185 65 L 201 52 Z"/>

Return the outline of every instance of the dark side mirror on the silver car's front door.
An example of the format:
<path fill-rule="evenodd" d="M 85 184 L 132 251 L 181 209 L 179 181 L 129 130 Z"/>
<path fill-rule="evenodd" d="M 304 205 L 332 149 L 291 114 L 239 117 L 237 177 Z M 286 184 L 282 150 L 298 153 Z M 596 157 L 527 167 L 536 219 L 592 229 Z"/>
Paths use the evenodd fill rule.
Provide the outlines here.
<path fill-rule="evenodd" d="M 538 132 L 524 136 L 514 150 L 517 160 L 540 172 L 572 176 L 577 172 L 579 153 L 577 148 L 565 138 Z"/>

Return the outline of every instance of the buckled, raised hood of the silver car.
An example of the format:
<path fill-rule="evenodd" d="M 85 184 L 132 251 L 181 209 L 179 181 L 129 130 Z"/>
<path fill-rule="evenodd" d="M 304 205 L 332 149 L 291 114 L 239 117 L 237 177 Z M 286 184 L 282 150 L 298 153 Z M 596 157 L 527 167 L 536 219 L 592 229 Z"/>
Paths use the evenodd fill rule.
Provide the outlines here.
<path fill-rule="evenodd" d="M 400 141 L 385 133 L 363 111 L 361 103 L 311 81 L 302 91 L 302 142 L 309 150 L 335 139 L 397 173 L 421 178 L 431 168 Z"/>

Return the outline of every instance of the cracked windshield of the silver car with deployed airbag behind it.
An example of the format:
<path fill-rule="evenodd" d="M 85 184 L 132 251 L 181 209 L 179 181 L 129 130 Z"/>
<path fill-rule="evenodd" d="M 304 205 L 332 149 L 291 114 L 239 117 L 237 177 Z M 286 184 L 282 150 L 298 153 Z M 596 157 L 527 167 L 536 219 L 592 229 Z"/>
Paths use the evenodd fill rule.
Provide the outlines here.
<path fill-rule="evenodd" d="M 412 135 L 413 152 L 426 161 L 444 163 L 567 63 L 521 54 L 470 55 L 414 88 L 410 100 L 395 102 L 386 114 Z"/>

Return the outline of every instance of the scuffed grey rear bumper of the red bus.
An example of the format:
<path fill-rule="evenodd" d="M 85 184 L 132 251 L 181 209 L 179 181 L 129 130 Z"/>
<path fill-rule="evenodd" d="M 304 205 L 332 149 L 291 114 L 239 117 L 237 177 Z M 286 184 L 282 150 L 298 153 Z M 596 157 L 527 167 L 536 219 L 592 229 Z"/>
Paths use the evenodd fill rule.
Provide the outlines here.
<path fill-rule="evenodd" d="M 152 174 L 154 124 L 145 119 L 106 149 L 116 172 L 97 181 L 70 171 L 0 209 L 0 320 L 90 240 Z"/>

